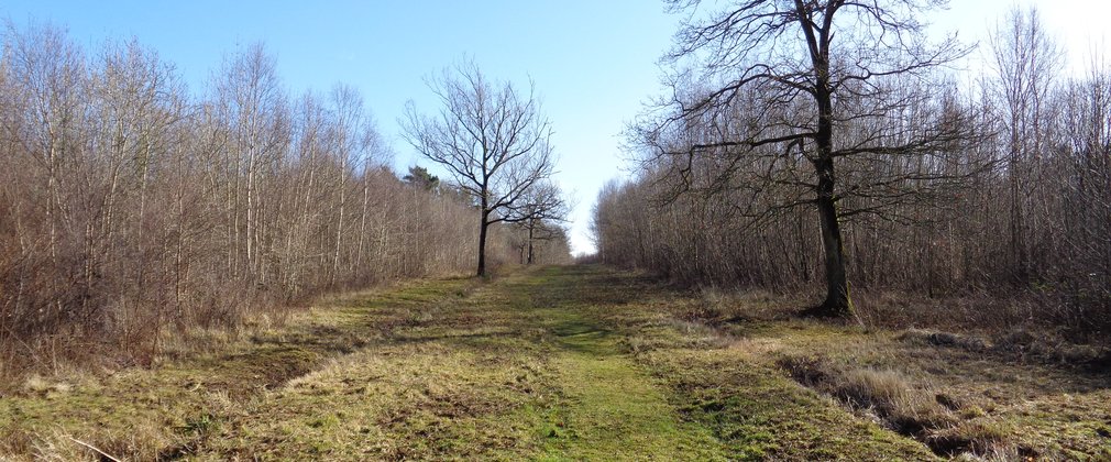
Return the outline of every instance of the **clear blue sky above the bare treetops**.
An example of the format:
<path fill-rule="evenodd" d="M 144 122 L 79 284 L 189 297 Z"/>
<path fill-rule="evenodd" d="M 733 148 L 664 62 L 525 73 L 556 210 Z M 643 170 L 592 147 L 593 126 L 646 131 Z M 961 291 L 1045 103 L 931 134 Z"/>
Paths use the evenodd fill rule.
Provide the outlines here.
<path fill-rule="evenodd" d="M 960 30 L 974 41 L 1013 2 L 952 3 L 934 19 L 937 28 Z M 1074 54 L 1102 48 L 1101 21 L 1111 17 L 1111 2 L 1035 3 Z M 629 173 L 619 134 L 642 102 L 659 92 L 655 63 L 680 19 L 654 0 L 7 0 L 0 16 L 16 24 L 33 19 L 66 27 L 87 49 L 134 37 L 176 63 L 196 91 L 224 53 L 264 42 L 293 94 L 327 91 L 337 82 L 359 89 L 391 140 L 399 171 L 431 167 L 412 154 L 397 123 L 407 100 L 422 111 L 437 109 L 426 76 L 468 56 L 491 78 L 519 84 L 531 78 L 556 130 L 558 181 L 578 200 L 571 218 L 579 252 L 591 250 L 588 223 L 599 188 Z"/>

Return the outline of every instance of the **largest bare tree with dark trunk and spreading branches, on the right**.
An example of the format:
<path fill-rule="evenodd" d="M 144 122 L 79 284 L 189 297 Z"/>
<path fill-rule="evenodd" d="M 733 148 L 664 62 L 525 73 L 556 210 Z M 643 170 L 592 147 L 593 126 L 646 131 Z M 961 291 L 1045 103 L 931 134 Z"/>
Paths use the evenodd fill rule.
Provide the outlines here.
<path fill-rule="evenodd" d="M 663 113 L 633 128 L 634 142 L 654 159 L 671 158 L 669 168 L 688 185 L 699 173 L 699 157 L 715 159 L 711 170 L 722 172 L 708 190 L 739 170 L 755 172 L 744 188 L 778 190 L 787 199 L 761 210 L 739 204 L 754 219 L 815 205 L 827 295 L 813 313 L 851 315 L 842 219 L 878 213 L 892 198 L 967 172 L 937 154 L 971 137 L 968 114 L 955 106 L 931 107 L 921 86 L 902 83 L 924 80 L 930 69 L 967 53 L 954 38 L 924 39 L 915 17 L 943 1 L 741 0 L 708 14 L 700 0 L 667 2 L 690 11 L 665 57 L 681 71 L 672 76 L 672 98 L 661 101 Z M 924 170 L 889 168 L 923 161 Z M 803 172 L 805 164 L 812 173 Z M 839 184 L 838 164 L 888 174 Z M 840 210 L 851 197 L 880 200 Z"/>

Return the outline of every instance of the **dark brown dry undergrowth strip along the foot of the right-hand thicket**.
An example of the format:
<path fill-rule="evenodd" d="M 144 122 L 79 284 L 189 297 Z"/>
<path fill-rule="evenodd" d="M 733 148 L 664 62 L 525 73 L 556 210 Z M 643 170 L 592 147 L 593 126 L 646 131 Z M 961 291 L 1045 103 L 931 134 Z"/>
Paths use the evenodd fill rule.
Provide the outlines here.
<path fill-rule="evenodd" d="M 813 304 L 799 295 L 765 290 L 702 288 L 670 311 L 683 321 L 711 327 L 792 319 Z M 1064 364 L 1091 370 L 1111 365 L 1111 341 L 1081 335 L 1050 322 L 1032 297 L 987 293 L 927 299 L 901 292 L 858 291 L 857 319 L 867 330 L 894 330 L 912 344 L 990 352 L 1010 361 Z"/>

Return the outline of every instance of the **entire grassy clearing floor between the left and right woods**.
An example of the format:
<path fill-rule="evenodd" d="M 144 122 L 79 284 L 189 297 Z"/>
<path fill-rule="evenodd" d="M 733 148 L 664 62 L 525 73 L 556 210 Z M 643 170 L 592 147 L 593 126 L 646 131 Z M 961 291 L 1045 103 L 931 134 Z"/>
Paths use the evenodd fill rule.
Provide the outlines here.
<path fill-rule="evenodd" d="M 351 293 L 154 369 L 29 380 L 0 460 L 1111 458 L 1105 376 L 704 304 L 593 265 Z"/>

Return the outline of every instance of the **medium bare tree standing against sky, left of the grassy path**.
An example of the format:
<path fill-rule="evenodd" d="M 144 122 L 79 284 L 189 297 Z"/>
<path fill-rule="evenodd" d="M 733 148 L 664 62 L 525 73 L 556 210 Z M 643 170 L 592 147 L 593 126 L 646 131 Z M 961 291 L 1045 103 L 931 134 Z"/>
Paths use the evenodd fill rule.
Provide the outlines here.
<path fill-rule="evenodd" d="M 552 174 L 551 122 L 532 86 L 521 93 L 510 82 L 491 82 L 473 62 L 428 83 L 442 108 L 430 117 L 410 102 L 404 135 L 478 202 L 478 275 L 486 275 L 489 227 L 521 220 L 523 198 Z"/>

